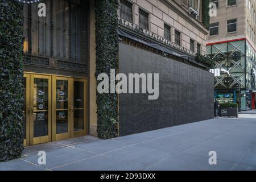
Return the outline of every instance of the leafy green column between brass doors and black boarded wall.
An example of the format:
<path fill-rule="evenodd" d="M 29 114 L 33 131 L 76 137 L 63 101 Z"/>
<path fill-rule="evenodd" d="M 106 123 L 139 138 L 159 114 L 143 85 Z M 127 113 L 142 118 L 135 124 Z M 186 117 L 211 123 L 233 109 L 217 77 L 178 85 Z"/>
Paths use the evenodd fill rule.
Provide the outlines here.
<path fill-rule="evenodd" d="M 96 78 L 100 73 L 110 77 L 110 69 L 118 72 L 117 9 L 117 0 L 96 0 Z M 117 94 L 97 92 L 96 102 L 98 137 L 118 137 Z"/>

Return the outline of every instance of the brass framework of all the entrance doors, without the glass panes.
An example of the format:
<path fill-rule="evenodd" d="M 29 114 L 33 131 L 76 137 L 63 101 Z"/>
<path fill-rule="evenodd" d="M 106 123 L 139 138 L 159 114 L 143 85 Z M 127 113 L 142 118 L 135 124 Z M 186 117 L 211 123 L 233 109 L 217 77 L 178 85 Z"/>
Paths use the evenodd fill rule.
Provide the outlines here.
<path fill-rule="evenodd" d="M 26 72 L 26 139 L 24 146 L 47 143 L 55 140 L 82 137 L 88 132 L 88 79 Z M 34 78 L 48 80 L 48 136 L 34 138 Z M 56 80 L 68 81 L 68 133 L 56 134 Z M 74 131 L 74 81 L 84 82 L 84 130 Z M 33 108 L 32 108 L 33 107 Z"/>

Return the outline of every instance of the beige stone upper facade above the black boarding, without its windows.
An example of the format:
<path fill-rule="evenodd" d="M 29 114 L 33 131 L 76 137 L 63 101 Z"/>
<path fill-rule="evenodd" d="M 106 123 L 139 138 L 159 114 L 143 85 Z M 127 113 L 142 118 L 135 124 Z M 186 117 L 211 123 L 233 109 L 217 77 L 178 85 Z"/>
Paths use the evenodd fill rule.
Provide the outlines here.
<path fill-rule="evenodd" d="M 179 46 L 195 53 L 199 49 L 202 55 L 205 54 L 208 30 L 202 24 L 202 1 L 195 1 L 196 7 L 189 6 L 192 1 L 188 0 L 119 0 L 119 2 L 130 3 L 133 14 L 130 23 L 139 26 L 139 10 L 142 10 L 148 14 L 149 31 L 164 38 L 164 30 L 169 28 L 171 42 L 175 43 L 175 34 L 180 33 Z M 198 13 L 196 18 L 192 17 L 192 8 Z M 120 16 L 120 9 L 118 14 Z M 194 44 L 193 48 L 191 43 Z"/>

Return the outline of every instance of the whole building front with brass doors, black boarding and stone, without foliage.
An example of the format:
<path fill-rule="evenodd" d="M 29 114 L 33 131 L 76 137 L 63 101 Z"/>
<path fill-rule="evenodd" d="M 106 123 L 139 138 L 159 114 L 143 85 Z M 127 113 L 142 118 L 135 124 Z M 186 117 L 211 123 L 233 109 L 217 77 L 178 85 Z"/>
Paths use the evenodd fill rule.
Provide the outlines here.
<path fill-rule="evenodd" d="M 97 2 L 24 5 L 24 146 L 98 136 Z M 119 136 L 213 117 L 213 76 L 196 59 L 196 53 L 205 54 L 208 34 L 202 2 L 102 4 L 117 13 L 117 22 L 106 28 L 117 29 L 119 72 L 160 75 L 159 100 L 149 101 L 143 94 L 118 96 Z M 38 16 L 39 3 L 45 3 L 46 16 Z"/>

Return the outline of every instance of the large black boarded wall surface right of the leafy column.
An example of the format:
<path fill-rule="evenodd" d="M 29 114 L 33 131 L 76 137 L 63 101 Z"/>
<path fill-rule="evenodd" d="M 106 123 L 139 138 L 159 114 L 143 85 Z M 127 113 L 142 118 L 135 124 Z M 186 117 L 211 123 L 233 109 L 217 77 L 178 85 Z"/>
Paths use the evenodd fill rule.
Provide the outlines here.
<path fill-rule="evenodd" d="M 159 73 L 159 98 L 119 95 L 119 135 L 213 118 L 212 73 L 119 43 L 119 73 Z"/>

